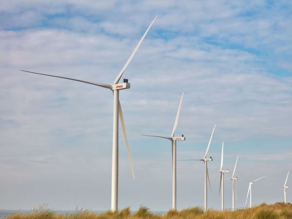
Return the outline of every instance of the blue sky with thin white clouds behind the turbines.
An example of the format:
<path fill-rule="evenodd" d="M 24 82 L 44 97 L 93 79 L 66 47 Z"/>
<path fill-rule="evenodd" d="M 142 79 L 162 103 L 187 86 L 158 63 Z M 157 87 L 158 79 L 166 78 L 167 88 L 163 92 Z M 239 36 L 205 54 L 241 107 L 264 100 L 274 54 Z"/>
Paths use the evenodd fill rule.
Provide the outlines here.
<path fill-rule="evenodd" d="M 119 208 L 168 210 L 171 144 L 177 159 L 208 156 L 220 208 L 219 168 L 233 171 L 236 207 L 283 201 L 292 170 L 292 3 L 289 0 L 0 1 L 0 209 L 110 209 L 112 94 L 20 69 L 112 83 L 158 16 L 120 92 L 135 180 L 119 133 Z M 177 207 L 203 206 L 203 163 L 177 162 Z M 226 174 L 229 178 L 231 174 Z M 247 179 L 247 180 L 246 180 Z M 288 185 L 292 178 L 288 178 Z M 231 181 L 225 207 L 231 208 Z M 287 201 L 292 201 L 287 191 Z"/>

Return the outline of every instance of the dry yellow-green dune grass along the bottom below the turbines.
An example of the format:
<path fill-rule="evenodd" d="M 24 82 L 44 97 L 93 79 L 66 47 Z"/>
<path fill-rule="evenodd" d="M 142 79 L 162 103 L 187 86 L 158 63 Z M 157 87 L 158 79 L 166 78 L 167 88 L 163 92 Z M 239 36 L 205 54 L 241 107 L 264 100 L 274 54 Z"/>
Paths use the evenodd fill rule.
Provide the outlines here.
<path fill-rule="evenodd" d="M 292 219 L 292 204 L 263 203 L 234 212 L 209 210 L 206 213 L 200 207 L 192 207 L 181 211 L 169 210 L 163 215 L 153 214 L 145 206 L 141 206 L 135 213 L 131 213 L 130 208 L 127 207 L 120 211 L 106 211 L 101 214 L 76 208 L 72 214 L 62 214 L 48 210 L 47 205 L 40 205 L 30 213 L 16 213 L 6 216 L 6 219 Z"/>

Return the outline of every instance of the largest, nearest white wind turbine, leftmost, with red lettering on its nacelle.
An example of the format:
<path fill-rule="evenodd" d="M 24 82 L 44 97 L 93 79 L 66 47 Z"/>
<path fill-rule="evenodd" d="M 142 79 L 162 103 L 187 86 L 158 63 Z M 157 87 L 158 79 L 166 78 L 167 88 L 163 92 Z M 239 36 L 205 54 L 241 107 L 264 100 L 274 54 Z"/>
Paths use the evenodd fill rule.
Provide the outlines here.
<path fill-rule="evenodd" d="M 131 158 L 131 153 L 130 149 L 128 146 L 128 138 L 127 138 L 127 132 L 125 128 L 125 122 L 124 122 L 124 116 L 123 116 L 123 111 L 122 107 L 119 101 L 119 91 L 123 89 L 129 89 L 130 88 L 130 83 L 128 83 L 128 79 L 124 79 L 124 83 L 119 83 L 119 80 L 121 79 L 123 73 L 125 72 L 126 68 L 128 67 L 128 64 L 132 60 L 133 56 L 136 54 L 138 48 L 140 47 L 143 39 L 146 37 L 146 34 L 148 33 L 149 29 L 151 28 L 152 24 L 156 20 L 157 16 L 152 20 L 150 25 L 148 26 L 145 34 L 143 37 L 140 39 L 138 42 L 137 46 L 135 47 L 134 51 L 128 58 L 128 61 L 116 77 L 116 79 L 113 81 L 112 84 L 102 84 L 102 83 L 96 83 L 96 82 L 90 82 L 90 81 L 84 81 L 84 80 L 79 80 L 79 79 L 73 79 L 69 77 L 61 77 L 61 76 L 55 76 L 55 75 L 50 75 L 50 74 L 43 74 L 43 73 L 36 73 L 36 72 L 29 72 L 29 71 L 24 71 L 20 70 L 23 72 L 28 72 L 28 73 L 35 73 L 35 74 L 41 74 L 41 75 L 47 75 L 47 76 L 52 76 L 52 77 L 59 77 L 59 78 L 64 78 L 64 79 L 69 79 L 73 81 L 79 81 L 103 88 L 110 89 L 113 93 L 113 129 L 112 129 L 112 168 L 111 168 L 111 210 L 116 211 L 118 209 L 118 133 L 119 133 L 119 117 L 121 121 L 121 125 L 123 128 L 123 133 L 124 133 L 124 138 L 126 141 L 126 146 L 128 150 L 128 157 L 129 157 L 129 162 L 132 170 L 132 176 L 133 179 L 135 178 L 134 176 L 134 169 L 133 169 L 133 164 L 132 164 L 132 158 Z"/>

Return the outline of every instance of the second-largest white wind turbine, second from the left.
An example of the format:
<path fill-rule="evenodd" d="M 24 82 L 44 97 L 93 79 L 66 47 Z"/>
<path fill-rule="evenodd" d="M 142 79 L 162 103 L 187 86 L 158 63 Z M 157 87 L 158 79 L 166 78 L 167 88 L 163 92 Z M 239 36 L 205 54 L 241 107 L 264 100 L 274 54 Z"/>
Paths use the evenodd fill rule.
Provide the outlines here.
<path fill-rule="evenodd" d="M 174 126 L 172 129 L 172 133 L 170 137 L 165 136 L 158 136 L 158 135 L 144 135 L 144 136 L 150 136 L 150 137 L 157 137 L 157 138 L 165 138 L 171 141 L 171 152 L 172 152 L 172 209 L 176 209 L 176 141 L 184 141 L 185 137 L 174 137 L 175 130 L 178 126 L 179 117 L 180 117 L 180 111 L 182 108 L 182 102 L 183 102 L 183 93 L 179 105 L 179 109 L 175 118 Z"/>

